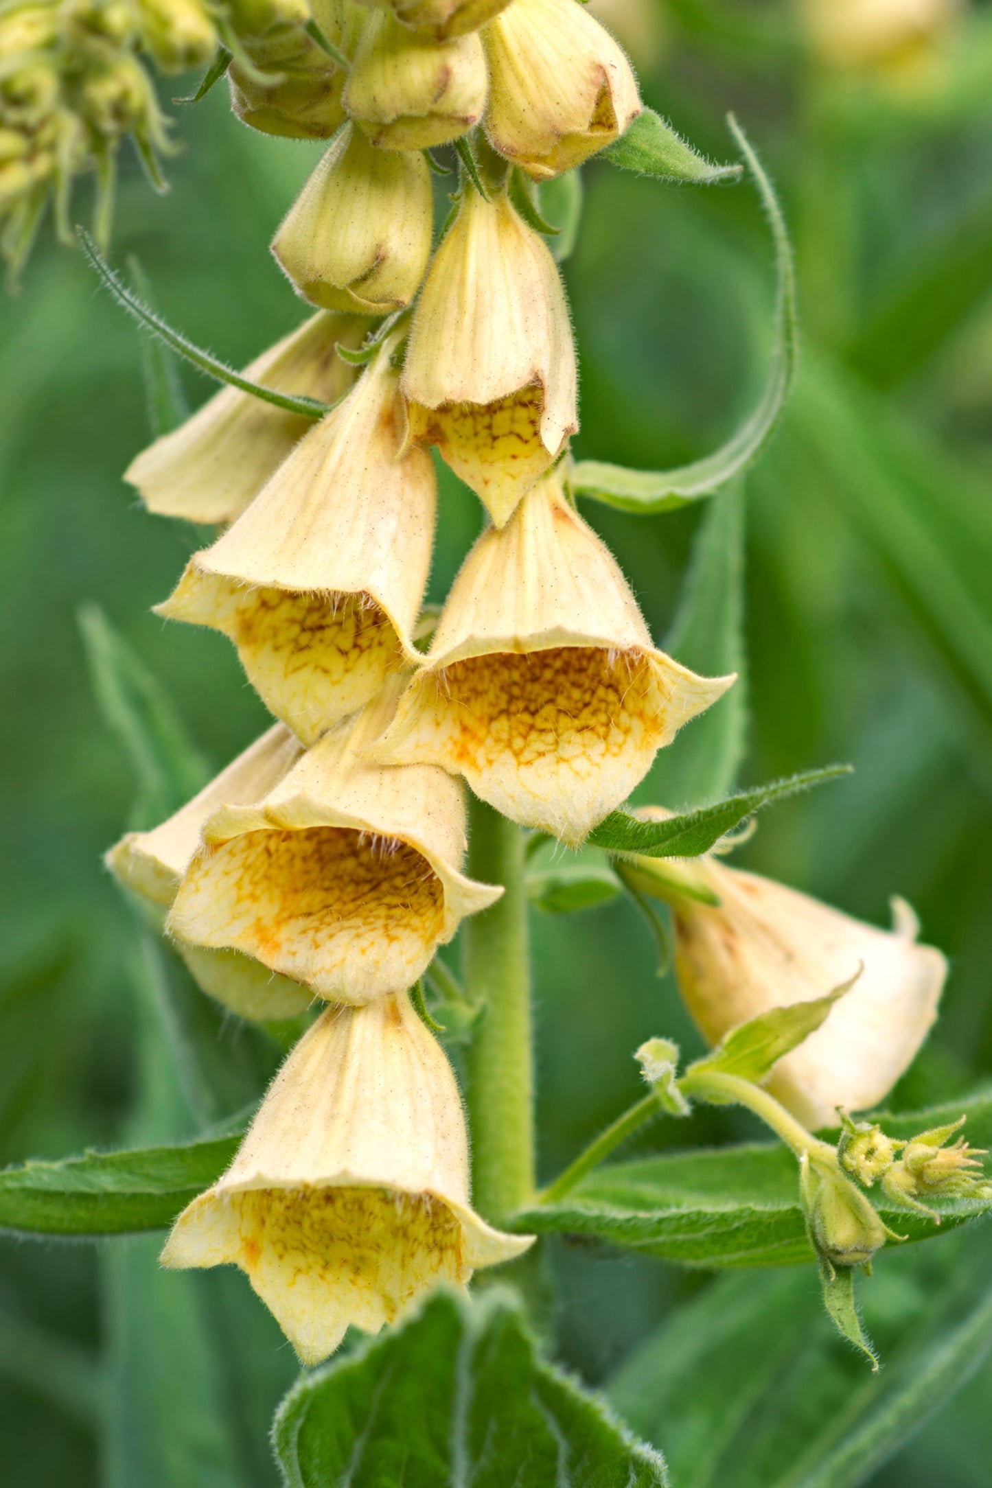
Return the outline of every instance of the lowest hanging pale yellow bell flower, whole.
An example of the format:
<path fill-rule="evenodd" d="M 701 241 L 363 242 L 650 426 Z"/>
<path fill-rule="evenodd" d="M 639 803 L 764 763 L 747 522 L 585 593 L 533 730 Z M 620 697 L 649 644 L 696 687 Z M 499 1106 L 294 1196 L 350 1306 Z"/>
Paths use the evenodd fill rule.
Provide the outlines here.
<path fill-rule="evenodd" d="M 522 1254 L 468 1202 L 454 1074 L 406 992 L 329 1007 L 231 1168 L 183 1210 L 162 1265 L 239 1266 L 305 1364 L 376 1333 L 437 1281 Z"/>

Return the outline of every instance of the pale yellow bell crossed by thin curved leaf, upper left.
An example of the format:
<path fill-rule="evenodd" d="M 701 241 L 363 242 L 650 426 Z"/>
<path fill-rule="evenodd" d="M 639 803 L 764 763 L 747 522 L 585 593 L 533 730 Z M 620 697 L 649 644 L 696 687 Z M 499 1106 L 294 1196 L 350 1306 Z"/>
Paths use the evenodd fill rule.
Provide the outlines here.
<path fill-rule="evenodd" d="M 354 369 L 335 347 L 357 348 L 367 329 L 364 317 L 321 311 L 257 357 L 244 376 L 278 393 L 335 403 L 354 381 Z M 233 522 L 312 427 L 302 414 L 225 387 L 143 449 L 123 478 L 159 516 Z"/>

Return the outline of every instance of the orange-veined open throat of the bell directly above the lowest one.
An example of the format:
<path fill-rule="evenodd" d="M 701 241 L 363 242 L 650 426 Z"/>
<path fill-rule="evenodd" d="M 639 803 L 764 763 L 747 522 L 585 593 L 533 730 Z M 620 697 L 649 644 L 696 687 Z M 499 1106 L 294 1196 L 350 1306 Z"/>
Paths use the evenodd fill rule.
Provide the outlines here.
<path fill-rule="evenodd" d="M 396 838 L 335 826 L 256 830 L 193 863 L 170 929 L 360 1003 L 422 973 L 445 930 L 445 890 L 427 859 Z"/>

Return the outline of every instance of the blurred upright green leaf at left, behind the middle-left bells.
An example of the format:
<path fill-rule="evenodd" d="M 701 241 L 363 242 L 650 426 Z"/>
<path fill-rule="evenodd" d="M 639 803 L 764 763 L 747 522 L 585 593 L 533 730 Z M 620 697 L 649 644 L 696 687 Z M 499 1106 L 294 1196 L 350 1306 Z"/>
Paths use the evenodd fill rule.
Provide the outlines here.
<path fill-rule="evenodd" d="M 134 772 L 131 826 L 156 826 L 201 790 L 210 771 L 156 677 L 98 604 L 80 606 L 79 628 L 100 711 Z"/>

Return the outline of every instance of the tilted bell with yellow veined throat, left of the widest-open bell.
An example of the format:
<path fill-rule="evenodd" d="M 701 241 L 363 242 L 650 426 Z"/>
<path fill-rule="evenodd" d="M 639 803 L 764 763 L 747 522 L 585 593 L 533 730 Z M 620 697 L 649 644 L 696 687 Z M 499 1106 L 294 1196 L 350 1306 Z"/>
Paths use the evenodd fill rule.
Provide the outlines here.
<path fill-rule="evenodd" d="M 372 146 L 369 146 L 372 149 Z M 400 455 L 391 344 L 158 607 L 229 635 L 263 702 L 305 744 L 419 659 L 434 536 L 430 455 Z"/>

